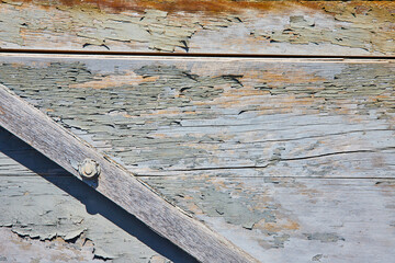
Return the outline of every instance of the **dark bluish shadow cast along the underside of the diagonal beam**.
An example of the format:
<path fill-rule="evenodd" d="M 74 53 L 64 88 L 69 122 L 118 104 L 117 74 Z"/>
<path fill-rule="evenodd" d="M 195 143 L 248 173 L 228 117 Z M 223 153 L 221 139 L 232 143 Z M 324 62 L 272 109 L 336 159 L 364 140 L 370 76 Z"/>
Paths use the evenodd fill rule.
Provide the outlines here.
<path fill-rule="evenodd" d="M 194 262 L 0 128 L 1 262 Z"/>

